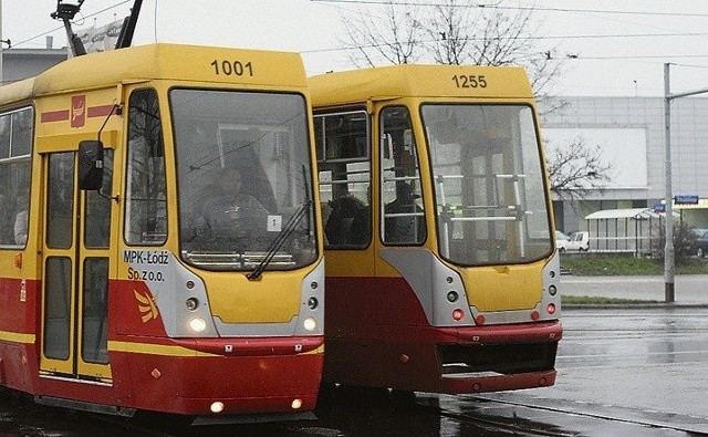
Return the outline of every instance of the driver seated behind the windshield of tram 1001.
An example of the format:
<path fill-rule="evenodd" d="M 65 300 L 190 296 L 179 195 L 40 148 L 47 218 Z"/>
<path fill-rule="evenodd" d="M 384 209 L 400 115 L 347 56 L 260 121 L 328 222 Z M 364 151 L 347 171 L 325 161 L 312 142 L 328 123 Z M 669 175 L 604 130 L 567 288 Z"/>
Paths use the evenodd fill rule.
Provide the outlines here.
<path fill-rule="evenodd" d="M 259 238 L 267 231 L 268 210 L 241 187 L 241 171 L 222 168 L 218 184 L 201 204 L 196 237 L 208 249 L 242 251 L 259 247 Z"/>

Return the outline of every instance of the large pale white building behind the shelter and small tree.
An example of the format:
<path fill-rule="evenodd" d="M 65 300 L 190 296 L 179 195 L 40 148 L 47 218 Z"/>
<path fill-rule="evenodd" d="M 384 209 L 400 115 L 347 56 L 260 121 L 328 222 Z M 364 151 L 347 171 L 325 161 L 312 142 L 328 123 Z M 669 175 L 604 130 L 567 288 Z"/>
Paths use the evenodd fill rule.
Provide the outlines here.
<path fill-rule="evenodd" d="M 598 146 L 611 163 L 611 181 L 589 189 L 581 200 L 555 197 L 558 228 L 587 230 L 585 216 L 603 209 L 654 208 L 665 198 L 665 136 L 663 97 L 554 97 L 543 116 L 546 153 L 582 138 Z M 543 113 L 543 106 L 541 107 Z M 671 103 L 671 179 L 674 196 L 698 196 L 696 206 L 675 206 L 681 218 L 708 228 L 708 98 L 686 97 Z"/>

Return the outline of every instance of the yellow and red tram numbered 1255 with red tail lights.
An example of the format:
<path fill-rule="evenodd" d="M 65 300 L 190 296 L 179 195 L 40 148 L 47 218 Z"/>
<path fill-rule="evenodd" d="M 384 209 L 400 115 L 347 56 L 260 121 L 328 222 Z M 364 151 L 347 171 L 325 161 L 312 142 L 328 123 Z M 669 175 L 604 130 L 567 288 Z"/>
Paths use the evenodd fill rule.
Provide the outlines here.
<path fill-rule="evenodd" d="M 522 69 L 310 77 L 329 383 L 549 386 L 562 335 L 540 128 Z"/>

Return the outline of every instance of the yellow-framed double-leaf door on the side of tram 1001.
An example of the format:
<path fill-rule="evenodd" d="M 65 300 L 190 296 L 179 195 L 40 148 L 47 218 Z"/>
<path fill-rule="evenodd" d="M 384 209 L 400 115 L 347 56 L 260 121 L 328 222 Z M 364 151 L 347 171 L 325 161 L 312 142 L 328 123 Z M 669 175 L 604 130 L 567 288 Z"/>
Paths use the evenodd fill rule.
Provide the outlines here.
<path fill-rule="evenodd" d="M 80 191 L 76 153 L 44 155 L 43 375 L 111 379 L 107 292 L 112 200 L 106 194 L 111 194 L 112 168 L 112 154 L 106 153 L 102 190 Z"/>

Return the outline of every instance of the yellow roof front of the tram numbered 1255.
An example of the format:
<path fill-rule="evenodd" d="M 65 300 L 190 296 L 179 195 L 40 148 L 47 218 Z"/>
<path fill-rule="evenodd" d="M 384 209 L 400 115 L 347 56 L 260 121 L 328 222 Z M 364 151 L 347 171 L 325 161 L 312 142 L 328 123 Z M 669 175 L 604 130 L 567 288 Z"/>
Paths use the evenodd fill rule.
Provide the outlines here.
<path fill-rule="evenodd" d="M 475 76 L 478 86 L 460 86 Z M 486 86 L 479 86 L 483 77 Z M 325 73 L 309 77 L 313 105 L 331 106 L 405 96 L 465 98 L 530 98 L 525 70 L 520 66 L 400 64 Z M 471 85 L 470 82 L 467 85 Z"/>

